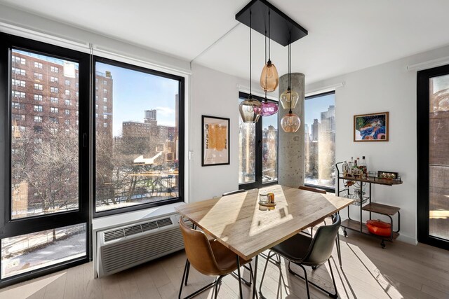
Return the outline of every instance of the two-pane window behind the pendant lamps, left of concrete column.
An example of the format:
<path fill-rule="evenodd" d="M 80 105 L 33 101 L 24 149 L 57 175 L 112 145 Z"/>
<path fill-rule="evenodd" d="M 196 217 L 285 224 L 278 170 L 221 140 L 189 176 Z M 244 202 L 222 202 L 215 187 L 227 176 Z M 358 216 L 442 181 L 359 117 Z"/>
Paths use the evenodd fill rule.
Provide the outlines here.
<path fill-rule="evenodd" d="M 240 102 L 247 97 L 241 92 Z M 257 123 L 243 123 L 239 116 L 240 188 L 260 188 L 277 181 L 278 114 L 260 117 Z"/>

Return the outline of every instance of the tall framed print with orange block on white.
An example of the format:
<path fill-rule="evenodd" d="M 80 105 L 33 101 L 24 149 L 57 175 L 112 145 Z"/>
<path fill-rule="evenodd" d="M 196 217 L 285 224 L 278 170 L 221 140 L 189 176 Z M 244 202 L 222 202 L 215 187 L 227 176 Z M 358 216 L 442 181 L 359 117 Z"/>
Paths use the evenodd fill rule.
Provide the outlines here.
<path fill-rule="evenodd" d="M 201 117 L 201 166 L 229 165 L 229 118 Z"/>

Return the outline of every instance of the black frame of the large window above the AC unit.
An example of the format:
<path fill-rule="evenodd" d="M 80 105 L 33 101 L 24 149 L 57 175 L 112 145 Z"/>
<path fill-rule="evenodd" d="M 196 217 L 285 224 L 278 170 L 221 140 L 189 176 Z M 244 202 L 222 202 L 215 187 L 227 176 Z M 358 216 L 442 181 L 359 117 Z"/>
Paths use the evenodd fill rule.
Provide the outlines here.
<path fill-rule="evenodd" d="M 95 123 L 98 119 L 98 113 L 95 113 L 95 100 L 91 102 L 91 136 L 93 141 L 92 146 L 92 167 L 93 167 L 93 178 L 92 178 L 92 217 L 93 218 L 100 218 L 103 216 L 110 216 L 110 215 L 116 215 L 116 214 L 122 214 L 126 213 L 128 211 L 138 211 L 141 209 L 149 209 L 152 207 L 161 207 L 166 204 L 173 204 L 175 202 L 184 202 L 185 201 L 185 77 L 177 76 L 173 74 L 164 73 L 162 71 L 156 71 L 154 69 L 148 69 L 145 67 L 139 67 L 134 64 L 128 64 L 126 62 L 120 62 L 117 60 L 111 60 L 109 58 L 100 57 L 100 56 L 93 56 L 92 60 L 92 99 L 95 99 L 95 93 L 98 91 L 98 86 L 101 85 L 101 83 L 97 82 L 95 80 L 95 74 L 96 74 L 96 64 L 97 62 L 104 63 L 104 64 L 110 64 L 114 67 L 122 67 L 125 69 L 130 69 L 133 71 L 140 71 L 142 73 L 154 75 L 154 76 L 160 76 L 163 78 L 168 78 L 172 80 L 178 81 L 178 112 L 177 112 L 177 132 L 178 132 L 178 191 L 179 191 L 179 197 L 170 198 L 168 200 L 162 200 L 159 202 L 148 202 L 145 204 L 135 204 L 131 207 L 121 207 L 117 209 L 110 209 L 106 211 L 96 211 L 96 143 L 95 143 Z M 102 123 L 102 122 L 101 122 Z M 104 125 L 103 125 L 104 126 Z"/>

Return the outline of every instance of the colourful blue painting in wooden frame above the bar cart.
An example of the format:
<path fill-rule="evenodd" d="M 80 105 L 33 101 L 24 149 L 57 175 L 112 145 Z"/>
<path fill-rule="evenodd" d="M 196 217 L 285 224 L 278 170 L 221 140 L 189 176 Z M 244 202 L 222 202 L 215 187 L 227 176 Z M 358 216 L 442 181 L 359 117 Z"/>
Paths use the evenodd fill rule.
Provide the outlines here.
<path fill-rule="evenodd" d="M 354 116 L 354 142 L 388 141 L 388 118 L 388 112 Z"/>

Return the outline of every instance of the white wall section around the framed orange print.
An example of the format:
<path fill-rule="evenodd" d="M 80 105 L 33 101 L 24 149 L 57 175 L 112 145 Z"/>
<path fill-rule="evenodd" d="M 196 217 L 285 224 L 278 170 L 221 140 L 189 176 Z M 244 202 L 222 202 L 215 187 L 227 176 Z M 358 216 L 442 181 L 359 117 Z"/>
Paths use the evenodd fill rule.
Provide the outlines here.
<path fill-rule="evenodd" d="M 239 189 L 239 90 L 243 79 L 192 64 L 191 201 L 206 200 Z M 230 119 L 229 165 L 201 167 L 201 116 Z"/>

